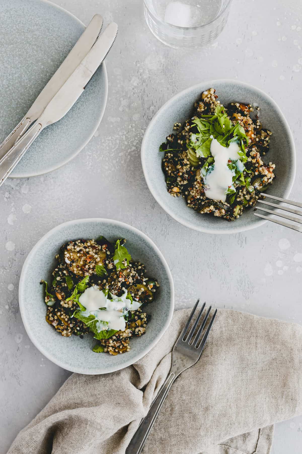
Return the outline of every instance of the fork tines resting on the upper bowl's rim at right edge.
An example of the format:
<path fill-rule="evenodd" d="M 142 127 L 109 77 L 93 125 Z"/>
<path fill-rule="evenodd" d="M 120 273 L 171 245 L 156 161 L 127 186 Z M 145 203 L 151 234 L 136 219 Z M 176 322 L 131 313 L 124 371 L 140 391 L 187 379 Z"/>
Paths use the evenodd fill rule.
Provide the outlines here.
<path fill-rule="evenodd" d="M 278 202 L 288 203 L 288 205 L 293 205 L 294 207 L 302 208 L 302 203 L 299 203 L 299 202 L 293 202 L 292 200 L 286 200 L 281 197 L 271 196 L 269 194 L 264 194 L 263 192 L 261 193 L 261 195 L 264 197 L 273 199 L 273 200 L 278 200 Z M 302 216 L 302 211 L 295 210 L 294 208 L 291 208 L 291 207 L 284 207 L 283 205 L 277 205 L 276 203 L 267 202 L 266 200 L 260 200 L 260 199 L 257 201 L 257 204 L 255 206 L 255 208 L 257 210 L 261 210 L 266 213 L 273 214 L 275 216 L 283 217 L 284 219 L 288 219 L 289 221 L 298 222 L 299 224 L 302 224 L 302 218 L 299 219 L 298 217 L 288 216 L 287 214 L 279 213 L 279 212 L 276 212 L 273 210 L 268 210 L 268 208 L 259 206 L 258 203 L 268 205 L 269 207 L 278 208 L 278 210 L 284 210 L 289 213 L 294 213 L 299 216 Z M 271 221 L 271 222 L 275 222 L 276 224 L 280 224 L 281 226 L 292 228 L 293 230 L 296 230 L 297 232 L 302 232 L 302 227 L 296 226 L 294 224 L 289 224 L 288 222 L 279 221 L 278 219 L 272 219 L 271 217 L 264 216 L 263 214 L 259 214 L 259 213 L 254 213 L 254 215 L 258 216 L 258 217 L 262 217 L 263 219 L 266 219 L 267 221 Z"/>

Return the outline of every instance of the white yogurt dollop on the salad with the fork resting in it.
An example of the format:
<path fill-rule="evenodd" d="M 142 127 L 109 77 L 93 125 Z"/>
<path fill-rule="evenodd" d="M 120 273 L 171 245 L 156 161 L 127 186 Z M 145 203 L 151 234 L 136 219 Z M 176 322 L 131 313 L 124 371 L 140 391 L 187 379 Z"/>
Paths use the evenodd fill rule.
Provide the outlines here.
<path fill-rule="evenodd" d="M 233 186 L 233 176 L 235 175 L 234 171 L 228 168 L 228 160 L 237 160 L 238 169 L 240 170 L 240 164 L 242 165 L 242 170 L 244 169 L 238 155 L 240 147 L 238 143 L 231 142 L 230 146 L 225 148 L 217 139 L 213 138 L 210 151 L 215 162 L 213 164 L 213 170 L 209 171 L 204 178 L 205 195 L 210 199 L 225 202 L 225 192 Z"/>

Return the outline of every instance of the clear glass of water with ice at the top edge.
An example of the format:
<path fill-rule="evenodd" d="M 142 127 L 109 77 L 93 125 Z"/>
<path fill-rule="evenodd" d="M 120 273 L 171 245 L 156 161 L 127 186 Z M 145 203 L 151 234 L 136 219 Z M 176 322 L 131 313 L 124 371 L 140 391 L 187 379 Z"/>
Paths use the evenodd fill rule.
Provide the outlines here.
<path fill-rule="evenodd" d="M 143 0 L 153 35 L 176 49 L 197 49 L 223 30 L 232 0 Z"/>

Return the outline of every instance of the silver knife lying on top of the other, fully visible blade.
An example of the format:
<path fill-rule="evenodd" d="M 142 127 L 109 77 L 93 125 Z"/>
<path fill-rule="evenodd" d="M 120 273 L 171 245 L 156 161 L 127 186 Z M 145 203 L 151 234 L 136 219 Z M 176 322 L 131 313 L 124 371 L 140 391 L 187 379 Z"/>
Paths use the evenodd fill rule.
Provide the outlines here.
<path fill-rule="evenodd" d="M 109 53 L 115 42 L 117 32 L 118 26 L 115 22 L 107 25 L 100 38 L 96 40 L 96 43 L 86 53 L 80 64 L 77 65 L 61 88 L 58 89 L 53 98 L 43 108 L 42 114 L 36 119 L 35 124 L 0 159 L 0 186 L 43 128 L 60 120 L 71 109 Z"/>

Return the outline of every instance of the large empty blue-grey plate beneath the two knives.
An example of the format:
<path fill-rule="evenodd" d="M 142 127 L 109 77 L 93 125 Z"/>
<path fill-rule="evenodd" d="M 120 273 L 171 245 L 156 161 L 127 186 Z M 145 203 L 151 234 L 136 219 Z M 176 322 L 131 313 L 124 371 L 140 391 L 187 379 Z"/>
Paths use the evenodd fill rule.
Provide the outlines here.
<path fill-rule="evenodd" d="M 0 142 L 16 126 L 84 30 L 66 10 L 42 0 L 0 1 Z M 108 92 L 105 64 L 59 122 L 44 129 L 10 174 L 50 172 L 74 158 L 95 133 Z"/>

